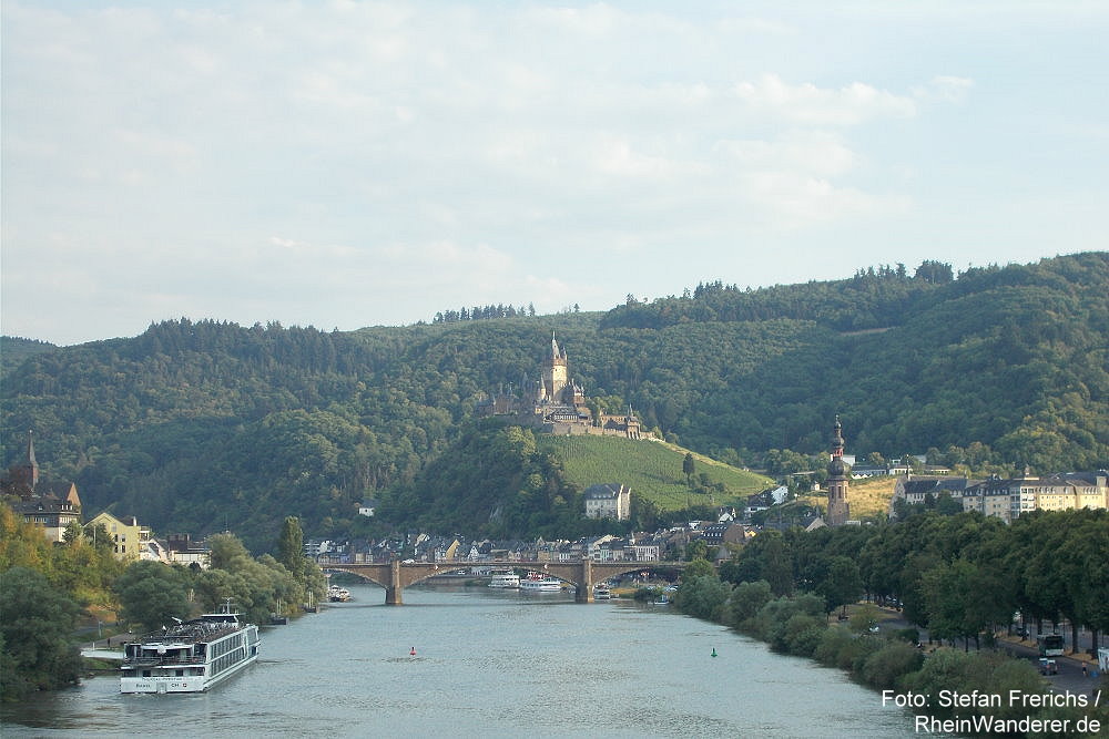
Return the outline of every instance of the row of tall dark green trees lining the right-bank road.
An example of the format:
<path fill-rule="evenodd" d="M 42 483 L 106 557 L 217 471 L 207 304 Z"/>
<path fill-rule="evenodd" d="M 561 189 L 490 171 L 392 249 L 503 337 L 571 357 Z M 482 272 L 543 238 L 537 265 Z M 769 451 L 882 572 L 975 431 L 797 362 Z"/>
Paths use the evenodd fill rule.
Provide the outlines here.
<path fill-rule="evenodd" d="M 862 595 L 902 604 L 940 639 L 978 642 L 1019 612 L 1037 633 L 1066 622 L 1095 643 L 1109 630 L 1109 512 L 1022 514 L 1011 524 L 927 511 L 904 522 L 764 532 L 721 566 L 731 584 L 767 583 L 775 596 L 814 593 L 831 613 Z"/>

